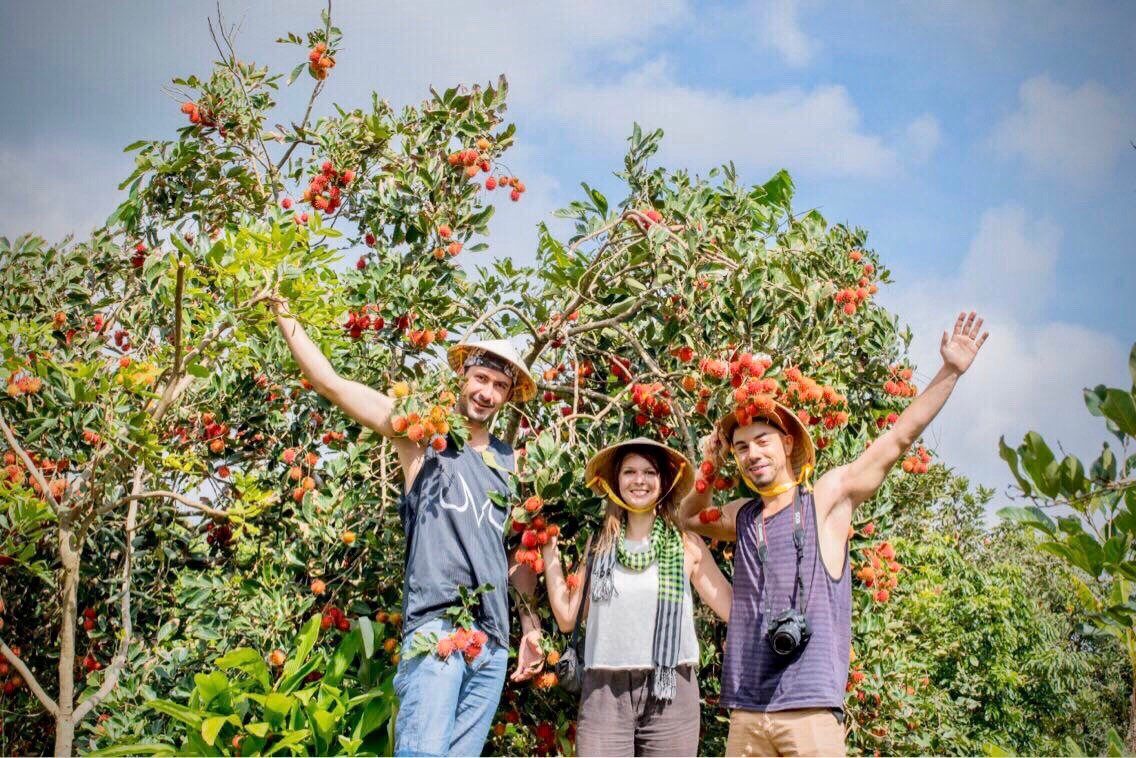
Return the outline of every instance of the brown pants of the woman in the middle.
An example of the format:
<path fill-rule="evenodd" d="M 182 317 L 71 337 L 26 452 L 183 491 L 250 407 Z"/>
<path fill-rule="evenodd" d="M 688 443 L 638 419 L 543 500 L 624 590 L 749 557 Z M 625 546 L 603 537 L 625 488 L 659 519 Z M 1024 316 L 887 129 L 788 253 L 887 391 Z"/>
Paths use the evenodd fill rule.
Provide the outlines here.
<path fill-rule="evenodd" d="M 699 682 L 677 669 L 670 702 L 651 697 L 649 670 L 584 670 L 576 752 L 580 756 L 696 756 Z"/>

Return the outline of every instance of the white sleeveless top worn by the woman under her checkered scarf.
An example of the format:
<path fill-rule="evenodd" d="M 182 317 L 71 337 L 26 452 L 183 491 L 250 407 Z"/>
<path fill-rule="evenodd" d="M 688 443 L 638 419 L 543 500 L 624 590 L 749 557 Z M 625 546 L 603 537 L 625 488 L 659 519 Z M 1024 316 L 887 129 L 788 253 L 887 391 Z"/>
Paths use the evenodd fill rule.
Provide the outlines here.
<path fill-rule="evenodd" d="M 630 552 L 646 550 L 646 540 L 627 540 Z M 659 565 L 642 572 L 625 568 L 618 560 L 612 572 L 616 591 L 611 600 L 592 600 L 584 634 L 584 668 L 654 668 L 654 613 L 659 599 Z M 699 663 L 694 634 L 694 599 L 683 573 L 683 615 L 679 622 L 678 665 Z"/>

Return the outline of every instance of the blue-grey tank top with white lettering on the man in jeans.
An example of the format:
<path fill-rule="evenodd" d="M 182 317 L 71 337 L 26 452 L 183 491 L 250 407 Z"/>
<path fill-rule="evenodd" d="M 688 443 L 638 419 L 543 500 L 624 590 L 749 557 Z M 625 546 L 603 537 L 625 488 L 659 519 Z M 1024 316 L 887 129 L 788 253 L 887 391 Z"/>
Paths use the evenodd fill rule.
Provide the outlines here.
<path fill-rule="evenodd" d="M 427 448 L 410 491 L 399 500 L 407 542 L 403 630 L 409 634 L 458 605 L 459 586 L 491 584 L 493 590 L 481 595 L 477 625 L 508 647 L 507 509 L 488 493 L 509 492 L 512 448 L 492 435 L 485 455 L 468 444 L 454 447 L 451 441 L 442 452 Z"/>

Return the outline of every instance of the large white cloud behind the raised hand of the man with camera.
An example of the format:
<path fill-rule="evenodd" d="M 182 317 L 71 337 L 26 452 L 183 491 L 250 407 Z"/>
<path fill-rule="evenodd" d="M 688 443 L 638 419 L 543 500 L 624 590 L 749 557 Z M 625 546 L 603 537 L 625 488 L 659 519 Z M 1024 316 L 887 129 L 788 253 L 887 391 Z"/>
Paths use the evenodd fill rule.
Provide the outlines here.
<path fill-rule="evenodd" d="M 1092 460 L 1104 439 L 1081 390 L 1127 386 L 1128 347 L 1114 338 L 1043 316 L 1058 295 L 1055 266 L 1061 230 L 1017 206 L 987 210 L 957 273 L 884 292 L 885 303 L 914 333 L 917 380 L 926 385 L 941 365 L 939 335 L 961 310 L 986 318 L 991 336 L 962 377 L 926 440 L 974 481 L 1000 490 L 1010 484 L 997 441 L 1011 447 L 1041 432 L 1054 450 Z M 1059 453 L 1060 455 L 1060 453 Z"/>

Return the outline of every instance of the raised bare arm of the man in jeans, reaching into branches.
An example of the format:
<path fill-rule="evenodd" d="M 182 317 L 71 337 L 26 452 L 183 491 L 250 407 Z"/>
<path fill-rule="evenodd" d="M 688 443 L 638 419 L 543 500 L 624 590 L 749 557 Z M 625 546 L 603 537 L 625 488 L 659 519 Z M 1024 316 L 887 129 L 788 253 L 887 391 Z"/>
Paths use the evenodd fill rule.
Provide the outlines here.
<path fill-rule="evenodd" d="M 421 466 L 425 448 L 406 438 L 395 436 L 391 427 L 394 400 L 366 384 L 352 382 L 336 374 L 319 347 L 311 341 L 300 323 L 289 315 L 284 301 L 273 299 L 270 307 L 276 316 L 276 324 L 284 334 L 284 341 L 292 351 L 292 357 L 316 392 L 367 428 L 393 440 L 406 486 L 409 489 Z"/>

